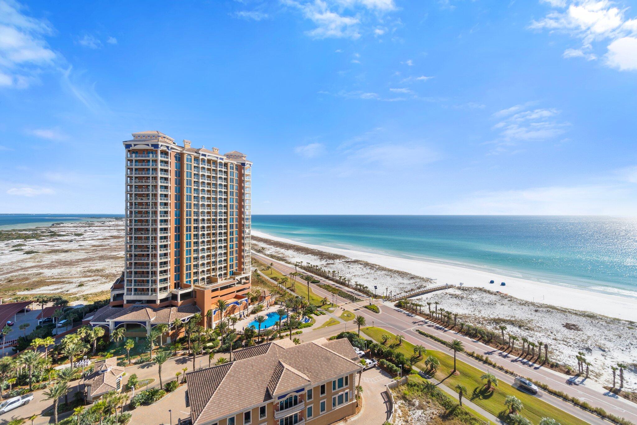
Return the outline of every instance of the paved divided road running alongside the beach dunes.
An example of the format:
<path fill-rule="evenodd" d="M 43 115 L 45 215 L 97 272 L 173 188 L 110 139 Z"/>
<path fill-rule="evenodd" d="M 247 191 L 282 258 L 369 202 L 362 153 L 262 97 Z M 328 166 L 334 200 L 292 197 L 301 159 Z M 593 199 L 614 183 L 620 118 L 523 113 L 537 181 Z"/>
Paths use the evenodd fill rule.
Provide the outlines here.
<path fill-rule="evenodd" d="M 276 261 L 275 259 L 271 259 L 269 257 L 263 256 L 262 254 L 254 254 L 253 257 L 259 261 L 264 261 L 266 263 L 274 263 L 275 270 L 278 270 L 282 273 L 288 274 L 290 271 L 294 271 L 294 267 L 290 267 L 288 264 L 282 263 L 280 261 Z M 322 282 L 329 282 L 324 278 L 317 277 L 318 280 Z M 333 284 L 332 282 L 329 282 Z M 326 296 L 329 294 L 328 299 L 331 299 L 331 294 L 324 289 L 317 287 L 316 285 L 311 285 L 312 291 L 316 292 L 321 296 Z M 347 290 L 347 288 L 343 288 L 343 290 Z M 415 331 L 415 329 L 420 328 L 427 333 L 431 333 L 432 335 L 438 336 L 443 340 L 453 340 L 458 339 L 461 340 L 469 351 L 475 351 L 478 353 L 483 353 L 485 355 L 489 355 L 490 359 L 505 368 L 514 371 L 520 375 L 524 375 L 526 377 L 533 378 L 534 380 L 538 380 L 540 382 L 545 382 L 553 389 L 563 391 L 564 393 L 570 394 L 582 401 L 587 401 L 590 405 L 594 407 L 601 407 L 606 412 L 615 414 L 619 417 L 624 417 L 625 419 L 637 423 L 637 405 L 627 401 L 623 398 L 619 398 L 615 396 L 615 394 L 610 394 L 608 391 L 605 391 L 601 388 L 601 385 L 588 380 L 589 382 L 585 382 L 582 384 L 580 381 L 573 380 L 573 377 L 569 377 L 567 375 L 562 375 L 561 373 L 557 373 L 553 370 L 548 370 L 547 368 L 543 368 L 536 364 L 529 364 L 520 362 L 519 359 L 516 359 L 513 356 L 506 356 L 505 354 L 499 352 L 498 350 L 493 349 L 487 345 L 484 345 L 480 342 L 476 342 L 475 340 L 468 338 L 464 335 L 460 335 L 453 331 L 448 331 L 447 329 L 440 328 L 435 324 L 427 321 L 424 317 L 415 316 L 412 313 L 404 312 L 404 310 L 400 310 L 392 305 L 392 303 L 379 303 L 379 307 L 381 309 L 380 314 L 369 312 L 366 308 L 362 308 L 362 305 L 367 303 L 368 301 L 359 301 L 359 303 L 350 303 L 347 299 L 340 298 L 336 296 L 336 301 L 338 303 L 347 303 L 348 310 L 355 311 L 356 314 L 362 315 L 366 318 L 368 326 L 373 324 L 375 326 L 380 326 L 382 328 L 387 329 L 388 331 L 397 334 L 401 333 L 406 336 L 406 339 L 412 343 L 417 343 L 421 345 L 425 345 L 427 348 L 448 351 L 447 347 L 444 345 L 431 340 L 430 338 L 426 338 Z M 334 328 L 334 327 L 333 327 Z M 335 329 L 334 329 L 335 330 Z M 481 362 L 476 361 L 475 359 L 462 355 L 462 361 L 465 363 L 471 364 L 477 368 L 484 370 L 485 368 L 490 368 Z M 494 373 L 499 379 L 507 382 L 508 384 L 513 384 L 513 377 L 510 375 L 503 373 L 495 368 L 490 368 L 491 372 Z M 607 421 L 601 420 L 596 415 L 589 414 L 584 410 L 572 405 L 571 403 L 567 403 L 557 397 L 551 396 L 548 393 L 544 393 L 541 391 L 540 396 L 543 400 L 555 405 L 556 407 L 569 412 L 576 417 L 580 417 L 584 421 L 590 423 L 605 423 Z"/>

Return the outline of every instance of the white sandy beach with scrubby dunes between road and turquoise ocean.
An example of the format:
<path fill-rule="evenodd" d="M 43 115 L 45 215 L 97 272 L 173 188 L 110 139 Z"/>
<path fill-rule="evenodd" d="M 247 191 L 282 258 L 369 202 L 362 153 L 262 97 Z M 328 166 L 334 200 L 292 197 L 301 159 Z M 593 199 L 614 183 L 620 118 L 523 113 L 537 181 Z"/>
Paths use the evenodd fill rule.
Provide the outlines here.
<path fill-rule="evenodd" d="M 585 352 L 592 363 L 591 376 L 604 385 L 612 384 L 610 366 L 625 363 L 629 365 L 625 387 L 637 388 L 636 326 L 632 322 L 637 318 L 637 299 L 533 282 L 460 265 L 308 245 L 254 230 L 252 234 L 252 249 L 257 252 L 292 263 L 319 264 L 351 277 L 352 282 L 370 288 L 377 285 L 379 292 L 385 292 L 385 287 L 396 293 L 426 285 L 420 277 L 434 278 L 441 284 L 463 282 L 462 288 L 433 292 L 415 301 L 423 304 L 438 301 L 440 307 L 458 313 L 460 321 L 486 329 L 497 331 L 498 326 L 504 324 L 507 333 L 548 343 L 551 358 L 571 367 L 576 364 L 576 354 Z M 496 284 L 490 285 L 491 279 L 496 280 Z M 506 282 L 506 286 L 501 287 L 499 282 Z M 469 287 L 485 290 L 471 291 Z M 508 296 L 495 292 L 501 290 Z"/>

